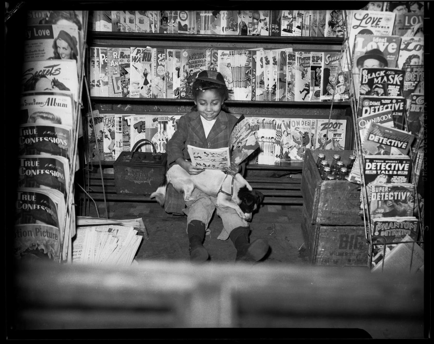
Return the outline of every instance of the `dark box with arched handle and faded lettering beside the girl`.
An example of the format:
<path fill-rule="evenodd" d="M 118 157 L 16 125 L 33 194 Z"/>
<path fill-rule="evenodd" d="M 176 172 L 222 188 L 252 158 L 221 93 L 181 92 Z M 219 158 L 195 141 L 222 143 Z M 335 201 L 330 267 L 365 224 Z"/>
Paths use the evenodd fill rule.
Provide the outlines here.
<path fill-rule="evenodd" d="M 113 163 L 116 193 L 150 195 L 160 186 L 166 173 L 167 154 L 156 153 L 151 145 L 154 153 L 121 152 Z M 133 148 L 138 147 L 135 144 Z"/>

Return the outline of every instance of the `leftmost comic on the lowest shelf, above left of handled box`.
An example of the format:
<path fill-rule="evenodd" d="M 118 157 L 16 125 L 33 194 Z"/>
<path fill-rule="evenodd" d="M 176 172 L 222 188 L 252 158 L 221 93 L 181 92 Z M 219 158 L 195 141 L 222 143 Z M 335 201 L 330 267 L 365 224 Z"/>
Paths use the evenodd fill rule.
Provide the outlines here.
<path fill-rule="evenodd" d="M 98 110 L 87 114 L 89 161 L 104 161 L 104 115 L 100 115 Z M 96 135 L 96 139 L 95 139 Z"/>

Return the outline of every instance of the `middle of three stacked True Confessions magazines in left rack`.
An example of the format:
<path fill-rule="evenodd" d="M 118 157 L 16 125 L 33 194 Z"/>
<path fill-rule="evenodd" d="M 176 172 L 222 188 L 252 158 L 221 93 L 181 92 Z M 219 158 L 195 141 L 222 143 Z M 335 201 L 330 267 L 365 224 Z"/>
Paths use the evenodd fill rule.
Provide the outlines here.
<path fill-rule="evenodd" d="M 56 155 L 21 155 L 18 157 L 18 187 L 54 189 L 67 197 L 69 162 Z"/>

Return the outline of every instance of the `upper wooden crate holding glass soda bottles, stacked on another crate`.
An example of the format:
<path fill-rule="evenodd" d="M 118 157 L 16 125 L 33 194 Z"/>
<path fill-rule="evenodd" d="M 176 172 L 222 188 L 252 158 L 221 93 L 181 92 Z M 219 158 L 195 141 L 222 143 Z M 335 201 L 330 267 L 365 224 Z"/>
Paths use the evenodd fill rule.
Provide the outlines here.
<path fill-rule="evenodd" d="M 346 166 L 352 151 L 306 150 L 301 192 L 309 223 L 364 226 L 363 218 L 359 215 L 360 186 L 348 180 L 322 180 L 316 167 L 319 153 L 325 154 L 329 164 L 332 163 L 333 154 L 339 154 Z"/>

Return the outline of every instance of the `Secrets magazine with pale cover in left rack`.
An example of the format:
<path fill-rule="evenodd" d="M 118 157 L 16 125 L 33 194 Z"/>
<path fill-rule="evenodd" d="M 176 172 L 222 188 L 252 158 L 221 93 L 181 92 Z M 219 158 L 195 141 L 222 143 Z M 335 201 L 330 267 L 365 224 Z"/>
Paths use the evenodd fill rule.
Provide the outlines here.
<path fill-rule="evenodd" d="M 24 62 L 22 91 L 71 91 L 78 101 L 77 63 L 74 60 Z"/>

